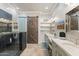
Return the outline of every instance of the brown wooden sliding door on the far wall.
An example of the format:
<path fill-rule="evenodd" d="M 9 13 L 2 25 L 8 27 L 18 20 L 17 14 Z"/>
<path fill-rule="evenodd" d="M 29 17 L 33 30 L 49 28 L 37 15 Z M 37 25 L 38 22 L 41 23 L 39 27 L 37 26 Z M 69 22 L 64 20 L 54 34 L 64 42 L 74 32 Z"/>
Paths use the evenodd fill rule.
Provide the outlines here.
<path fill-rule="evenodd" d="M 38 43 L 38 16 L 27 17 L 27 43 Z"/>

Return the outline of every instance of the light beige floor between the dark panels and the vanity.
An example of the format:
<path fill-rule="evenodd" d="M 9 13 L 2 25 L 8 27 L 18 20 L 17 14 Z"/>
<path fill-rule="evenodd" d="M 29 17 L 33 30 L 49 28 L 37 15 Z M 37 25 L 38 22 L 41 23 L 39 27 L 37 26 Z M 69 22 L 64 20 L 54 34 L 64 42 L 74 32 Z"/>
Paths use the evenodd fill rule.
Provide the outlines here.
<path fill-rule="evenodd" d="M 47 56 L 47 49 L 38 44 L 27 44 L 27 48 L 20 56 Z"/>

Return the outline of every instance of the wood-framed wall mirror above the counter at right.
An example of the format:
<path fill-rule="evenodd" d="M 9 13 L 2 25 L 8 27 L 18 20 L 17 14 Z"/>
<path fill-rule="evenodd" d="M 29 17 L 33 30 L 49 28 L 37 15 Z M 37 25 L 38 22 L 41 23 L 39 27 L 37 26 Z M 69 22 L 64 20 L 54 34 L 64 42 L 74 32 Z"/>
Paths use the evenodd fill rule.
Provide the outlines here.
<path fill-rule="evenodd" d="M 79 6 L 66 14 L 66 32 L 79 30 Z"/>

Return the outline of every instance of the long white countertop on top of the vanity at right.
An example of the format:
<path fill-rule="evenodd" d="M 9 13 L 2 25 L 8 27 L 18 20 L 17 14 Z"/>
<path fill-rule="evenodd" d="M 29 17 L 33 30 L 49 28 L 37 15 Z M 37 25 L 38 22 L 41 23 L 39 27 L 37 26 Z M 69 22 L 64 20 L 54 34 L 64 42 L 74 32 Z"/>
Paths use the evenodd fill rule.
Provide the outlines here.
<path fill-rule="evenodd" d="M 49 40 L 52 40 L 59 46 L 61 47 L 66 53 L 68 53 L 71 56 L 79 56 L 79 45 L 74 44 L 73 42 L 70 42 L 68 40 L 63 40 L 59 38 L 55 38 L 52 34 L 50 33 L 45 33 Z"/>

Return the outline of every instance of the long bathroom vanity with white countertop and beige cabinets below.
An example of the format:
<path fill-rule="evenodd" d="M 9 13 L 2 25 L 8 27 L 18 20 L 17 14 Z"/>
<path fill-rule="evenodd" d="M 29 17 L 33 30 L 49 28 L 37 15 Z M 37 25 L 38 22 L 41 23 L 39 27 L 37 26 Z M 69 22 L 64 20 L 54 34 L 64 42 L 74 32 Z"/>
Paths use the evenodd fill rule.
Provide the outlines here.
<path fill-rule="evenodd" d="M 48 40 L 48 52 L 50 56 L 79 56 L 79 45 L 68 40 L 54 37 L 45 33 Z"/>

